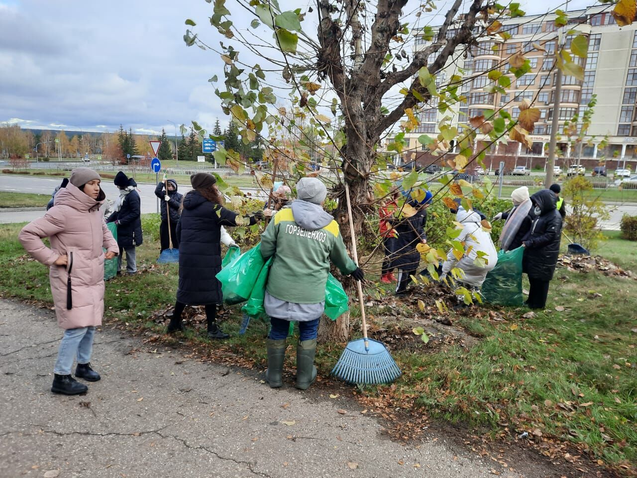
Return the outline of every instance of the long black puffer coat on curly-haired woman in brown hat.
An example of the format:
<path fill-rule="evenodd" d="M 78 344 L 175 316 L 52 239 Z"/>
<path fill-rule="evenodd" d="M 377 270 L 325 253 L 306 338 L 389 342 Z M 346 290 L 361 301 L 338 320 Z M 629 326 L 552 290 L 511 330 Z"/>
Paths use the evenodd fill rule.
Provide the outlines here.
<path fill-rule="evenodd" d="M 189 305 L 222 303 L 221 226 L 237 226 L 237 213 L 208 201 L 197 191 L 183 198 L 177 223 L 179 286 L 177 300 Z M 250 218 L 250 225 L 254 224 Z"/>

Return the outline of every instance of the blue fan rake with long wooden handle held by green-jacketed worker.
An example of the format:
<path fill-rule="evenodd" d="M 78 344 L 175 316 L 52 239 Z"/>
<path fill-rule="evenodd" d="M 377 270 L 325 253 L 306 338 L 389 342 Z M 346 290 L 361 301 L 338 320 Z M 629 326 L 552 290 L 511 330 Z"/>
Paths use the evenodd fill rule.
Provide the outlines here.
<path fill-rule="evenodd" d="M 354 253 L 354 261 L 358 264 L 350 189 L 347 182 L 345 183 L 345 198 L 347 198 L 347 212 L 350 219 L 350 232 L 352 233 L 352 252 Z M 367 337 L 365 305 L 360 280 L 356 281 L 356 287 L 361 307 L 363 338 L 352 340 L 347 344 L 331 375 L 351 384 L 389 384 L 400 377 L 401 371 L 389 354 L 387 347 L 382 342 Z"/>

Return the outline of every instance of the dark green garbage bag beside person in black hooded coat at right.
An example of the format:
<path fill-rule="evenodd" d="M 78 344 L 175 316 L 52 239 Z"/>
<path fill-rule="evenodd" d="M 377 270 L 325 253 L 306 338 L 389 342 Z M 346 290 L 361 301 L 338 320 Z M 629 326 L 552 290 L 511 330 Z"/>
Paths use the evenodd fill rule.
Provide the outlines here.
<path fill-rule="evenodd" d="M 522 256 L 524 247 L 497 253 L 497 264 L 482 284 L 482 298 L 496 305 L 520 306 L 522 297 Z"/>

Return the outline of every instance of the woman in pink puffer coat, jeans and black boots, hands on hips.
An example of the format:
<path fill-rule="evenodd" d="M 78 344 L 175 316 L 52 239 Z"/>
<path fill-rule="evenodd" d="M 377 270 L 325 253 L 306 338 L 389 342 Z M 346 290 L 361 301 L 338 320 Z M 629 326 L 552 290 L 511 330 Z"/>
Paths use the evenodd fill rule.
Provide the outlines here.
<path fill-rule="evenodd" d="M 99 211 L 106 198 L 100 180 L 90 168 L 73 170 L 69 184 L 55 194 L 55 206 L 24 226 L 18 236 L 31 256 L 49 266 L 57 323 L 65 329 L 54 367 L 54 393 L 76 395 L 88 390 L 71 377 L 76 356 L 76 377 L 100 379 L 89 362 L 95 328 L 104 314 L 104 259 L 119 252 Z M 50 249 L 42 242 L 45 237 L 50 238 Z"/>

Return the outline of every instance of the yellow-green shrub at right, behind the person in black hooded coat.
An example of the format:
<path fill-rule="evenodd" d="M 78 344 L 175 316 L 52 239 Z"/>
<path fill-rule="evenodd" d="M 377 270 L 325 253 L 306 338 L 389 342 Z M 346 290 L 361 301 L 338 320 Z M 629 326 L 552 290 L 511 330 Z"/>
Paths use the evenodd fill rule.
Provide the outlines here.
<path fill-rule="evenodd" d="M 599 196 L 591 194 L 593 185 L 583 176 L 566 181 L 563 191 L 567 205 L 572 209 L 564 220 L 564 231 L 586 249 L 596 249 L 599 242 L 604 240 L 600 221 L 610 217 L 606 205 Z"/>

